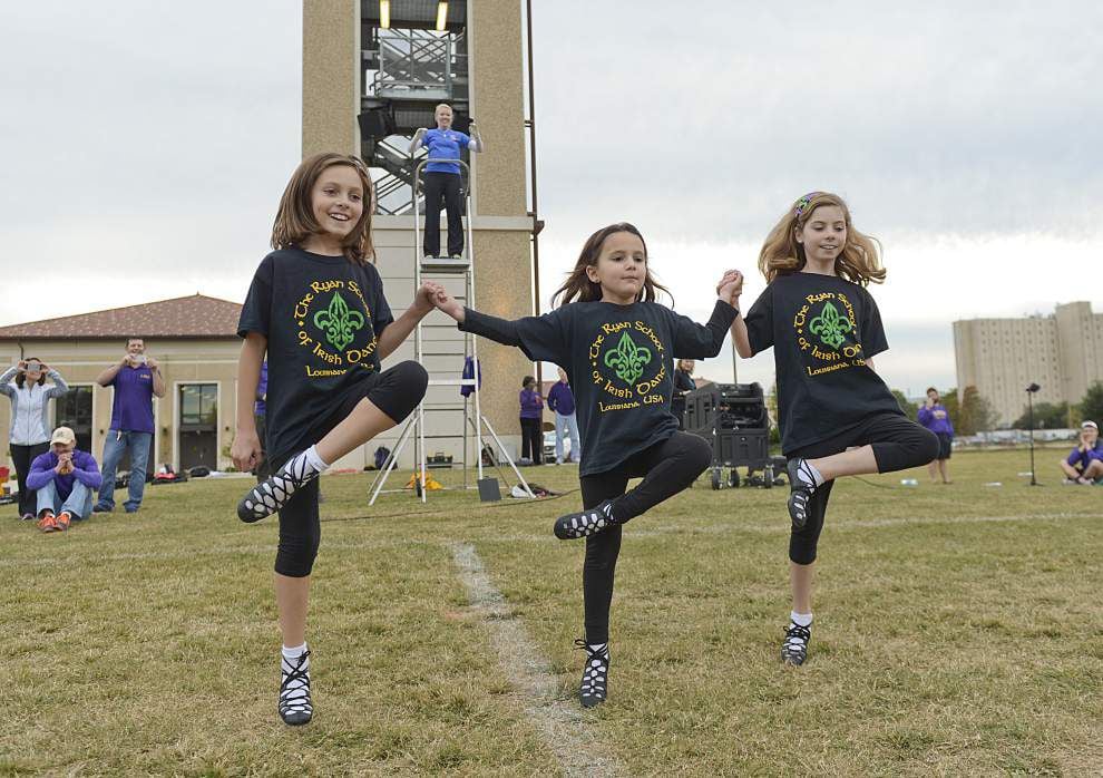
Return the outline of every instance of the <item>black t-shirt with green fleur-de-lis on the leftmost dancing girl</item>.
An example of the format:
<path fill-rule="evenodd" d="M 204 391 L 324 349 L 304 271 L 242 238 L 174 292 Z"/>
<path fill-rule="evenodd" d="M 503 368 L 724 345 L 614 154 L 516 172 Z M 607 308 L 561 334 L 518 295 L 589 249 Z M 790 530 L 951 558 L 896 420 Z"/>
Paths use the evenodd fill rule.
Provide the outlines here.
<path fill-rule="evenodd" d="M 377 339 L 394 321 L 373 265 L 301 249 L 261 262 L 237 334 L 269 341 L 267 445 L 273 456 L 314 443 L 313 427 L 379 371 Z"/>

